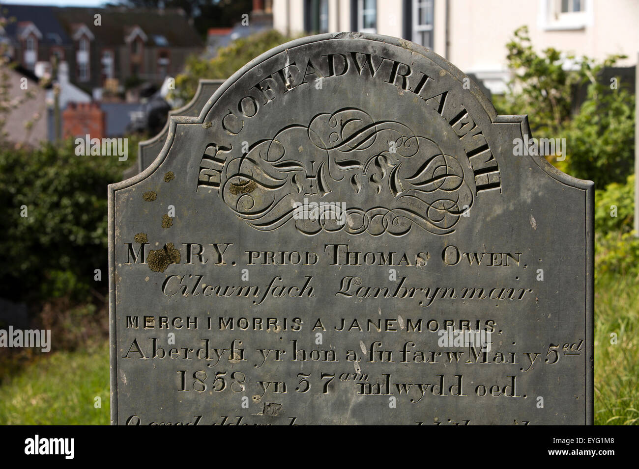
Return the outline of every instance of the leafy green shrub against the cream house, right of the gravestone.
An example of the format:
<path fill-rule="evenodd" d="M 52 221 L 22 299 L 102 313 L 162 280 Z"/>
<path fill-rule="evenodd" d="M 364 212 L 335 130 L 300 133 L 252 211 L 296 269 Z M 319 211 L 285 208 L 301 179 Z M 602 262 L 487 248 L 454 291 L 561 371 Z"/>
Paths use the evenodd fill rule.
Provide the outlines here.
<path fill-rule="evenodd" d="M 623 182 L 634 161 L 634 96 L 610 89 L 597 77 L 625 57 L 613 55 L 597 63 L 551 47 L 537 54 L 525 26 L 506 47 L 514 78 L 509 93 L 495 98 L 498 112 L 528 114 L 534 137 L 566 138 L 566 160 L 549 161 L 567 174 L 590 179 L 597 188 Z M 583 86 L 587 98 L 573 115 L 576 91 Z"/>

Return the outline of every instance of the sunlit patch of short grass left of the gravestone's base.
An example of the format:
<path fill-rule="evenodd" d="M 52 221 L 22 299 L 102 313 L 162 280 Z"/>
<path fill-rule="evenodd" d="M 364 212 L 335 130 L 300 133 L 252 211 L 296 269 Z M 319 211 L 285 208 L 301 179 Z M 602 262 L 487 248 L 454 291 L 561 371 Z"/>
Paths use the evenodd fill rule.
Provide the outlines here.
<path fill-rule="evenodd" d="M 99 397 L 101 408 L 95 408 Z M 108 425 L 109 344 L 55 352 L 0 387 L 2 425 Z"/>

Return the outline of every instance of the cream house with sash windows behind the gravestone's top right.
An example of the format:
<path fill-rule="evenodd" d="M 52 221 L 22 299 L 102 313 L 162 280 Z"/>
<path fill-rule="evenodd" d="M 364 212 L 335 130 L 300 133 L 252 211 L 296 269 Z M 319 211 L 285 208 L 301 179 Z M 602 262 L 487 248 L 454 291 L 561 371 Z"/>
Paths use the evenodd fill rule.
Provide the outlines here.
<path fill-rule="evenodd" d="M 626 67 L 639 51 L 636 0 L 273 0 L 272 9 L 286 34 L 360 31 L 419 43 L 498 94 L 509 80 L 505 45 L 524 24 L 537 50 L 624 54 Z"/>

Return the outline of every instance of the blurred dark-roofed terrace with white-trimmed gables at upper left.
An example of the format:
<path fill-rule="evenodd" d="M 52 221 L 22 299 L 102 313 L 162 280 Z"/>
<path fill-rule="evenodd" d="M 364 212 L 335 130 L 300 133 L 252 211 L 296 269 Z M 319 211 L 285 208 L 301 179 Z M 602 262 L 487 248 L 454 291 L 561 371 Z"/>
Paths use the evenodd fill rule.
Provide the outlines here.
<path fill-rule="evenodd" d="M 3 4 L 2 11 L 15 18 L 4 30 L 14 61 L 35 70 L 57 56 L 68 63 L 70 82 L 98 98 L 105 87 L 162 84 L 203 49 L 182 10 Z"/>

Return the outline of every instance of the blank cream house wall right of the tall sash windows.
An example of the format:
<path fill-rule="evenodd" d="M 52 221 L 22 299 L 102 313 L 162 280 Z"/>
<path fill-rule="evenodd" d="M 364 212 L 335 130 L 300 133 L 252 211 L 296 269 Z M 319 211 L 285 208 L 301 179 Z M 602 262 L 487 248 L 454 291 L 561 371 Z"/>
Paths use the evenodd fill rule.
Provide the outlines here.
<path fill-rule="evenodd" d="M 548 21 L 548 0 L 450 0 L 450 62 L 465 72 L 506 70 L 506 43 L 514 30 L 528 26 L 537 51 L 554 47 L 576 56 L 603 60 L 609 54 L 625 54 L 621 66 L 636 63 L 639 50 L 639 1 L 590 0 L 589 18 L 581 29 L 553 29 Z M 438 0 L 445 8 L 445 0 Z M 435 24 L 438 33 L 442 29 Z M 437 34 L 437 33 L 436 33 Z M 438 36 L 436 36 L 437 38 Z M 435 43 L 436 52 L 443 50 Z"/>

